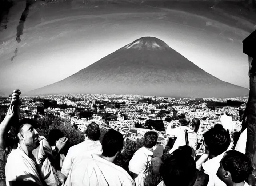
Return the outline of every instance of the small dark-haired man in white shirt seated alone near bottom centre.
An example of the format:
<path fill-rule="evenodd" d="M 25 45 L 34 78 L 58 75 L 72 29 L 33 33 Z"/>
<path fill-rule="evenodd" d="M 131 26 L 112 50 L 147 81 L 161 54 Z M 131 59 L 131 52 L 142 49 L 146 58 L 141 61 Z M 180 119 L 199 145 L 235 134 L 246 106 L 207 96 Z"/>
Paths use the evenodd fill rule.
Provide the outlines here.
<path fill-rule="evenodd" d="M 156 148 L 157 138 L 157 132 L 146 132 L 143 137 L 143 147 L 134 153 L 129 162 L 129 171 L 133 173 L 136 186 L 144 186 L 148 163 L 151 160 L 149 157 L 152 157 Z"/>

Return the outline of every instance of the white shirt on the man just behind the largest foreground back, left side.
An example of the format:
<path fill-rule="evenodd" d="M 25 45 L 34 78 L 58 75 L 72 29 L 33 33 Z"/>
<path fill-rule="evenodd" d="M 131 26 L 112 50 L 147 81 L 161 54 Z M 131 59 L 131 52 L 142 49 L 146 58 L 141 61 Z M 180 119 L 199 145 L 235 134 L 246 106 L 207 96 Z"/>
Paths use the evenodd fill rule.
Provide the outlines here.
<path fill-rule="evenodd" d="M 84 156 L 90 156 L 91 154 L 101 154 L 102 146 L 100 141 L 85 140 L 82 143 L 70 147 L 67 156 L 63 162 L 61 173 L 68 177 L 72 163 L 75 158 L 81 158 Z"/>

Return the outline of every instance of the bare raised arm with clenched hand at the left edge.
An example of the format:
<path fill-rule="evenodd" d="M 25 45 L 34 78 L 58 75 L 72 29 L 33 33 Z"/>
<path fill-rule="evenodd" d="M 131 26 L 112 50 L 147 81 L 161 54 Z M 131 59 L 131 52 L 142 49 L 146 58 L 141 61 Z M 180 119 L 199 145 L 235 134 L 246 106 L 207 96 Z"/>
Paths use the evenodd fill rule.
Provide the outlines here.
<path fill-rule="evenodd" d="M 17 121 L 13 120 L 13 118 L 15 118 L 17 114 L 19 115 L 19 106 L 18 106 L 19 95 L 20 95 L 20 90 L 13 91 L 10 107 L 8 109 L 8 112 L 4 120 L 0 124 L 0 148 L 2 149 L 6 148 L 5 137 L 9 129 L 11 128 L 11 123 L 19 122 L 19 117 L 16 118 Z"/>

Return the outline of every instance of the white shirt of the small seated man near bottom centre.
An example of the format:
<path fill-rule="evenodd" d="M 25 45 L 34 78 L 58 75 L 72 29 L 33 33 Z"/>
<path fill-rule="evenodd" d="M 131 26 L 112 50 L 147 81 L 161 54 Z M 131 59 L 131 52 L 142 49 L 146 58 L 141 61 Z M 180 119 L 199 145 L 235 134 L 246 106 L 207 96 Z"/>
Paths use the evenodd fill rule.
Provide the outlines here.
<path fill-rule="evenodd" d="M 145 176 L 147 173 L 148 163 L 151 160 L 149 157 L 153 155 L 153 152 L 141 147 L 134 154 L 129 162 L 129 171 L 137 174 L 138 176 L 134 179 L 136 186 L 144 186 Z"/>

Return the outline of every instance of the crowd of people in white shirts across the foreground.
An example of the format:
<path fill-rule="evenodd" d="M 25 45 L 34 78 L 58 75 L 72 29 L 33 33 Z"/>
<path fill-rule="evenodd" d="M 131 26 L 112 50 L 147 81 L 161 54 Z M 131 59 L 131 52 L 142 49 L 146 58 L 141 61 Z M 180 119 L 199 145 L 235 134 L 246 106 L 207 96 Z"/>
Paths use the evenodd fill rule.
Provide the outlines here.
<path fill-rule="evenodd" d="M 148 131 L 143 147 L 129 161 L 129 170 L 124 170 L 115 164 L 124 147 L 120 132 L 109 129 L 100 142 L 100 127 L 91 123 L 85 141 L 72 146 L 65 156 L 66 137 L 52 131 L 46 139 L 35 129 L 35 120 L 20 118 L 19 95 L 20 90 L 13 91 L 0 124 L 0 186 L 144 186 L 152 165 L 162 178 L 158 186 L 254 185 L 252 162 L 245 155 L 247 130 L 234 147 L 229 130 L 221 124 L 205 132 L 201 142 L 197 118 L 175 129 L 167 126 L 167 135 L 176 140 L 169 144 L 171 150 L 165 158 L 153 157 L 158 133 Z M 17 142 L 12 145 L 7 138 L 11 126 Z"/>

